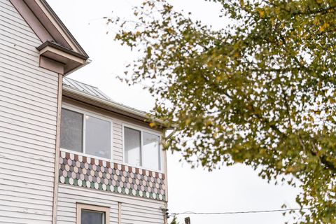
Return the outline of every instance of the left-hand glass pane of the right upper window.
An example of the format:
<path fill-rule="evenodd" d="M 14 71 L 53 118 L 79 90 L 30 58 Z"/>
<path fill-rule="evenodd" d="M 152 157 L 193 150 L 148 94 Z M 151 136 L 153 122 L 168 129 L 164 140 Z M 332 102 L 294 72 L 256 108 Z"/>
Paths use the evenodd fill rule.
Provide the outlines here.
<path fill-rule="evenodd" d="M 124 129 L 125 135 L 125 162 L 140 166 L 141 165 L 141 154 L 140 154 L 140 137 L 141 134 L 139 131 L 134 130 L 129 127 Z"/>

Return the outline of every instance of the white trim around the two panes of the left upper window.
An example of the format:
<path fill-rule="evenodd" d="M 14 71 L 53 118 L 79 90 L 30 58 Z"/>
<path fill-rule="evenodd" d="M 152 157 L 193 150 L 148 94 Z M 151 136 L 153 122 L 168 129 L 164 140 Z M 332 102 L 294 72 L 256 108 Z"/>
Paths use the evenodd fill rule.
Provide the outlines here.
<path fill-rule="evenodd" d="M 77 155 L 83 155 L 83 156 L 98 159 L 98 160 L 106 160 L 106 161 L 112 162 L 112 158 L 113 158 L 113 119 L 106 118 L 104 116 L 100 116 L 97 113 L 91 113 L 91 112 L 88 112 L 88 111 L 85 111 L 85 110 L 82 110 L 82 109 L 78 109 L 74 106 L 69 106 L 69 105 L 66 105 L 66 104 L 62 104 L 62 109 L 66 109 L 66 110 L 69 110 L 69 111 L 74 111 L 74 112 L 83 114 L 83 153 L 77 152 L 77 151 L 71 151 L 70 149 L 67 149 L 67 148 L 60 148 L 59 147 L 59 149 L 61 151 L 67 152 L 67 153 L 75 153 Z M 94 118 L 99 118 L 99 119 L 102 119 L 102 120 L 109 121 L 109 123 L 111 125 L 110 126 L 110 131 L 111 131 L 111 133 L 110 133 L 110 135 L 111 135 L 111 137 L 110 137 L 111 138 L 110 139 L 110 158 L 102 158 L 102 157 L 99 157 L 99 156 L 96 156 L 96 155 L 90 155 L 90 154 L 85 153 L 85 135 L 86 135 L 86 133 L 85 133 L 85 131 L 86 131 L 85 116 L 91 116 L 91 117 L 94 117 Z M 61 119 L 62 119 L 62 113 L 61 113 Z"/>

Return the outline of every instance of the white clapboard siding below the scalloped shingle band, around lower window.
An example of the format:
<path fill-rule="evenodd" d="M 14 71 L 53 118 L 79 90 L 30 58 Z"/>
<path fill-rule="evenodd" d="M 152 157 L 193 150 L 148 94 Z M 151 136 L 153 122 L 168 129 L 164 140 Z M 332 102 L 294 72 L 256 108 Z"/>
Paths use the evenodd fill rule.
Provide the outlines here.
<path fill-rule="evenodd" d="M 109 207 L 110 224 L 117 224 L 118 202 L 121 202 L 122 224 L 163 223 L 164 202 L 66 185 L 59 186 L 58 194 L 57 223 L 75 224 L 76 203 L 83 203 Z"/>

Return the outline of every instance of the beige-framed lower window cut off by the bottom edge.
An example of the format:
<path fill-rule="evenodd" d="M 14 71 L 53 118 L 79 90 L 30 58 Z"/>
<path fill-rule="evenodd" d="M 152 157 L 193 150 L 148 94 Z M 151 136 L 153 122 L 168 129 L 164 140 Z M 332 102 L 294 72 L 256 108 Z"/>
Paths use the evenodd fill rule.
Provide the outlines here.
<path fill-rule="evenodd" d="M 77 204 L 76 224 L 108 224 L 109 208 L 90 204 Z"/>

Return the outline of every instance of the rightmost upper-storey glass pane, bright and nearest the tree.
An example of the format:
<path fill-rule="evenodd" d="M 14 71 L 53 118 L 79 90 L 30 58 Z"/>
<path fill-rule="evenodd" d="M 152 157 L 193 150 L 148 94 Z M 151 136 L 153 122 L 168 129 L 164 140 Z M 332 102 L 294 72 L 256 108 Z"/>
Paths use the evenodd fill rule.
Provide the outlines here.
<path fill-rule="evenodd" d="M 160 137 L 155 134 L 142 133 L 142 166 L 148 169 L 160 170 Z"/>

